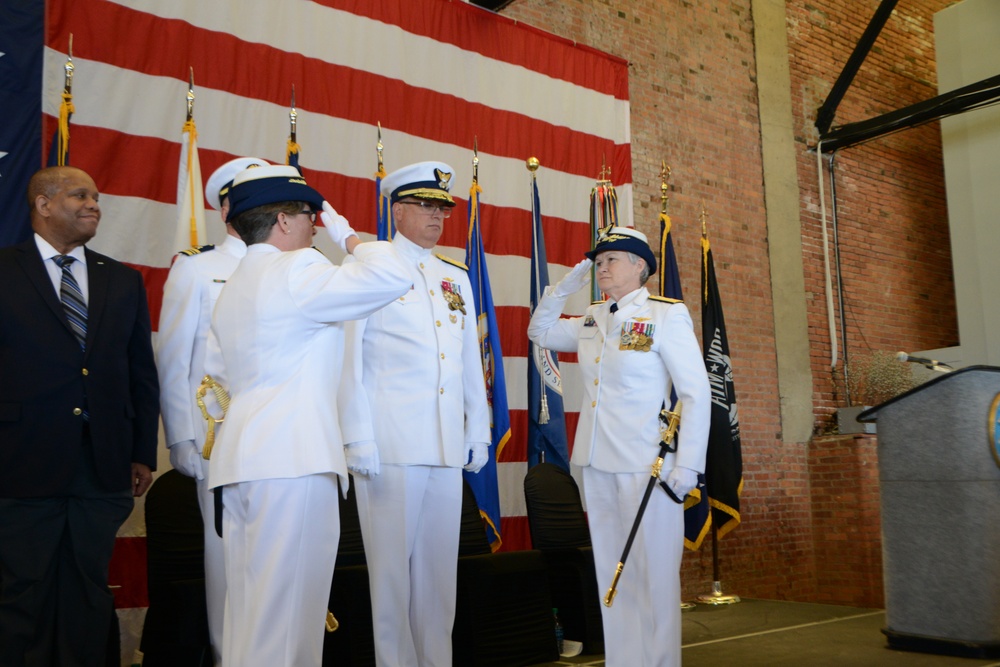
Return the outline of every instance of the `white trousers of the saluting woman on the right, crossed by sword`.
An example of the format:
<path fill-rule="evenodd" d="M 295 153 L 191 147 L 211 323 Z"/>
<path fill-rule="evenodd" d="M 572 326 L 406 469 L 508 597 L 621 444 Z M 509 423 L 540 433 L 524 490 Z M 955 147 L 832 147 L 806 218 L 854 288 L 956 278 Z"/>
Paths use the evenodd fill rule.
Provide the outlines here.
<path fill-rule="evenodd" d="M 650 462 L 652 464 L 652 462 Z M 649 484 L 649 473 L 583 468 L 597 589 L 604 598 Z M 601 605 L 608 667 L 680 667 L 680 566 L 684 506 L 656 487 L 636 534 L 618 595 Z"/>

